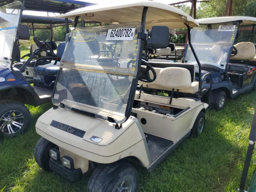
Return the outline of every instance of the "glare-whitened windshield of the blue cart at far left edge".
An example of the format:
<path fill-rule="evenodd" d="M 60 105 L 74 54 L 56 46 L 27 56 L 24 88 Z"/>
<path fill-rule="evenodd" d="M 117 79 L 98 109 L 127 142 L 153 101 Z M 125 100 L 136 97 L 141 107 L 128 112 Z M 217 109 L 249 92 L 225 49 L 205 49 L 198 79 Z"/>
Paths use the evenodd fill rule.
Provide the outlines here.
<path fill-rule="evenodd" d="M 10 67 L 11 64 L 21 4 L 16 1 L 0 7 L 0 65 L 7 67 Z"/>

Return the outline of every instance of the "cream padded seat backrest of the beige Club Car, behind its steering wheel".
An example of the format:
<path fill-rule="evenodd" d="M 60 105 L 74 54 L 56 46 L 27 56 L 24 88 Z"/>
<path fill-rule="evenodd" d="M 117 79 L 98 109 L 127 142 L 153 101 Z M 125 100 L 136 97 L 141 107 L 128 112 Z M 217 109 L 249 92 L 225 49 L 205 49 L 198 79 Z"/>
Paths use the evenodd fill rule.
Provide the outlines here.
<path fill-rule="evenodd" d="M 167 68 L 154 68 L 156 71 L 156 80 L 151 83 L 140 82 L 139 84 L 150 85 L 152 88 L 160 88 L 162 90 L 169 89 L 187 89 L 190 88 L 191 76 L 186 68 L 180 67 L 167 67 Z M 150 76 L 152 77 L 152 73 Z"/>

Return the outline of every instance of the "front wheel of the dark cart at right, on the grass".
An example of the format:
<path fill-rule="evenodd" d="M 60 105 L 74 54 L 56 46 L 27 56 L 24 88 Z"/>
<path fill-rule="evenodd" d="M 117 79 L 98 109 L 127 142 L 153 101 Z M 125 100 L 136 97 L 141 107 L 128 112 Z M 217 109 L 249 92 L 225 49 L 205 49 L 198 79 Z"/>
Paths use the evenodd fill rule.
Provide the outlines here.
<path fill-rule="evenodd" d="M 225 105 L 227 102 L 227 94 L 226 92 L 222 91 L 222 90 L 218 90 L 216 92 L 214 92 L 213 96 L 212 96 L 212 107 L 219 111 L 224 109 Z"/>

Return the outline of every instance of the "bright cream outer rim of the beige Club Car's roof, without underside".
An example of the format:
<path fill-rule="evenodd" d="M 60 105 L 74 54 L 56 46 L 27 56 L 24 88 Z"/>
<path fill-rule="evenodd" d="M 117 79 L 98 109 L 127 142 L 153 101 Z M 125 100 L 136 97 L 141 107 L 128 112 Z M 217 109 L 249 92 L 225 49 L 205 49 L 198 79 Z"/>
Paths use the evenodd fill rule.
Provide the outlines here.
<path fill-rule="evenodd" d="M 170 6 L 168 4 L 163 4 L 160 2 L 154 2 L 152 0 L 143 0 L 139 2 L 122 2 L 122 3 L 110 3 L 110 4 L 98 4 L 98 5 L 93 5 L 93 6 L 87 6 L 83 8 L 78 8 L 76 10 L 70 11 L 66 14 L 59 15 L 58 17 L 62 18 L 74 18 L 76 15 L 80 14 L 88 14 L 88 13 L 93 13 L 93 12 L 103 12 L 107 10 L 115 10 L 115 9 L 122 9 L 122 8 L 129 8 L 129 7 L 140 7 L 140 6 L 147 6 L 147 7 L 152 7 L 152 8 L 157 8 L 157 9 L 162 9 L 168 12 L 171 12 L 173 14 L 176 14 L 180 18 L 182 18 L 184 21 L 188 22 L 191 26 L 198 26 L 198 22 L 183 12 L 182 10 L 175 8 L 173 6 Z M 120 14 L 120 13 L 119 13 Z M 122 16 L 120 14 L 120 16 Z M 180 22 L 181 23 L 181 22 Z"/>

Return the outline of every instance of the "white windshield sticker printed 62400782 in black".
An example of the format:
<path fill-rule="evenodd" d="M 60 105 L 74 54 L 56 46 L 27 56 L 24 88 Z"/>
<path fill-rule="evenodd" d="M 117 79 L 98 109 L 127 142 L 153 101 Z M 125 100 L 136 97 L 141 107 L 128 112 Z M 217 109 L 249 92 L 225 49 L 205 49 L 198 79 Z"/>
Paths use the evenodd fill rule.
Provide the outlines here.
<path fill-rule="evenodd" d="M 133 40 L 135 28 L 109 29 L 106 40 Z"/>

